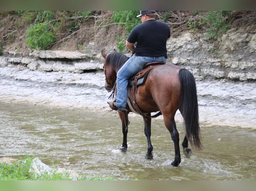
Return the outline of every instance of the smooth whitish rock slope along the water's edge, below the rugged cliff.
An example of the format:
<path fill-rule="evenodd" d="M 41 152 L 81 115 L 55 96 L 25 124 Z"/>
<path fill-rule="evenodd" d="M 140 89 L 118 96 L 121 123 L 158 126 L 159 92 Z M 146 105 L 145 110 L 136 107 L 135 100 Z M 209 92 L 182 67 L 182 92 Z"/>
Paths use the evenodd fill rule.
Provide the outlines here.
<path fill-rule="evenodd" d="M 109 93 L 104 89 L 102 70 L 90 69 L 82 74 L 66 70 L 33 71 L 26 65 L 6 64 L 6 59 L 0 57 L 1 101 L 84 108 L 118 117 L 116 111 L 109 112 L 106 103 Z M 88 63 L 102 65 L 100 61 Z M 204 80 L 197 81 L 197 91 L 202 125 L 256 128 L 256 83 Z M 180 113 L 177 113 L 176 121 L 182 120 Z"/>

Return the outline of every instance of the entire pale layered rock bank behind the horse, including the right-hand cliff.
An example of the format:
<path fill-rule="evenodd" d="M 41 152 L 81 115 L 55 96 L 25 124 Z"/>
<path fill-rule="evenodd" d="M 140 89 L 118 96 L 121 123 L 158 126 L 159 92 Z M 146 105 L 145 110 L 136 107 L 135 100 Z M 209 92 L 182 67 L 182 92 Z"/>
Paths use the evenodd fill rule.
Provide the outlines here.
<path fill-rule="evenodd" d="M 238 29 L 231 29 L 218 42 L 189 32 L 167 42 L 168 64 L 195 76 L 202 124 L 256 128 L 255 45 L 256 33 Z M 109 46 L 106 52 L 114 48 Z M 109 93 L 104 89 L 100 52 L 4 50 L 0 98 L 106 113 Z M 180 113 L 176 121 L 182 121 Z"/>

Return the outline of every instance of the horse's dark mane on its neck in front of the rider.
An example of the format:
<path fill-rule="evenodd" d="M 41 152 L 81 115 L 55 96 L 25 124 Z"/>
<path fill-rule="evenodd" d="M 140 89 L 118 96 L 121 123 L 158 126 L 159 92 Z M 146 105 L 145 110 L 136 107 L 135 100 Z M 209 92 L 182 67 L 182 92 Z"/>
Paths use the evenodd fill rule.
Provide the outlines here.
<path fill-rule="evenodd" d="M 124 65 L 129 58 L 118 52 L 110 53 L 106 58 L 106 63 L 116 68 L 117 71 Z"/>

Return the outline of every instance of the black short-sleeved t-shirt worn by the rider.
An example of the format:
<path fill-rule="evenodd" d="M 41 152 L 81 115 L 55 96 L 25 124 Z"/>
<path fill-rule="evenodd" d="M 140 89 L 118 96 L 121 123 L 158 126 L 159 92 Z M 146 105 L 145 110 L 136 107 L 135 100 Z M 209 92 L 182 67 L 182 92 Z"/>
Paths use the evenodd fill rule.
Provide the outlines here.
<path fill-rule="evenodd" d="M 170 28 L 166 23 L 148 20 L 135 26 L 127 41 L 129 43 L 137 42 L 136 56 L 164 56 L 167 58 L 166 40 L 168 38 L 170 38 Z"/>

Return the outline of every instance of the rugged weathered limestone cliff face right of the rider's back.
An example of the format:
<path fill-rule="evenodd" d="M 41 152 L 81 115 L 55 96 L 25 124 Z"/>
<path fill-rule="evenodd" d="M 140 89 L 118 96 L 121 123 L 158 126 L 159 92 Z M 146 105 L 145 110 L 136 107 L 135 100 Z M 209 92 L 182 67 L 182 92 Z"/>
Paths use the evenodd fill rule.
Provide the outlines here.
<path fill-rule="evenodd" d="M 167 42 L 169 61 L 189 69 L 197 80 L 205 78 L 256 80 L 256 34 L 236 29 L 218 42 L 203 34 L 183 33 Z"/>

